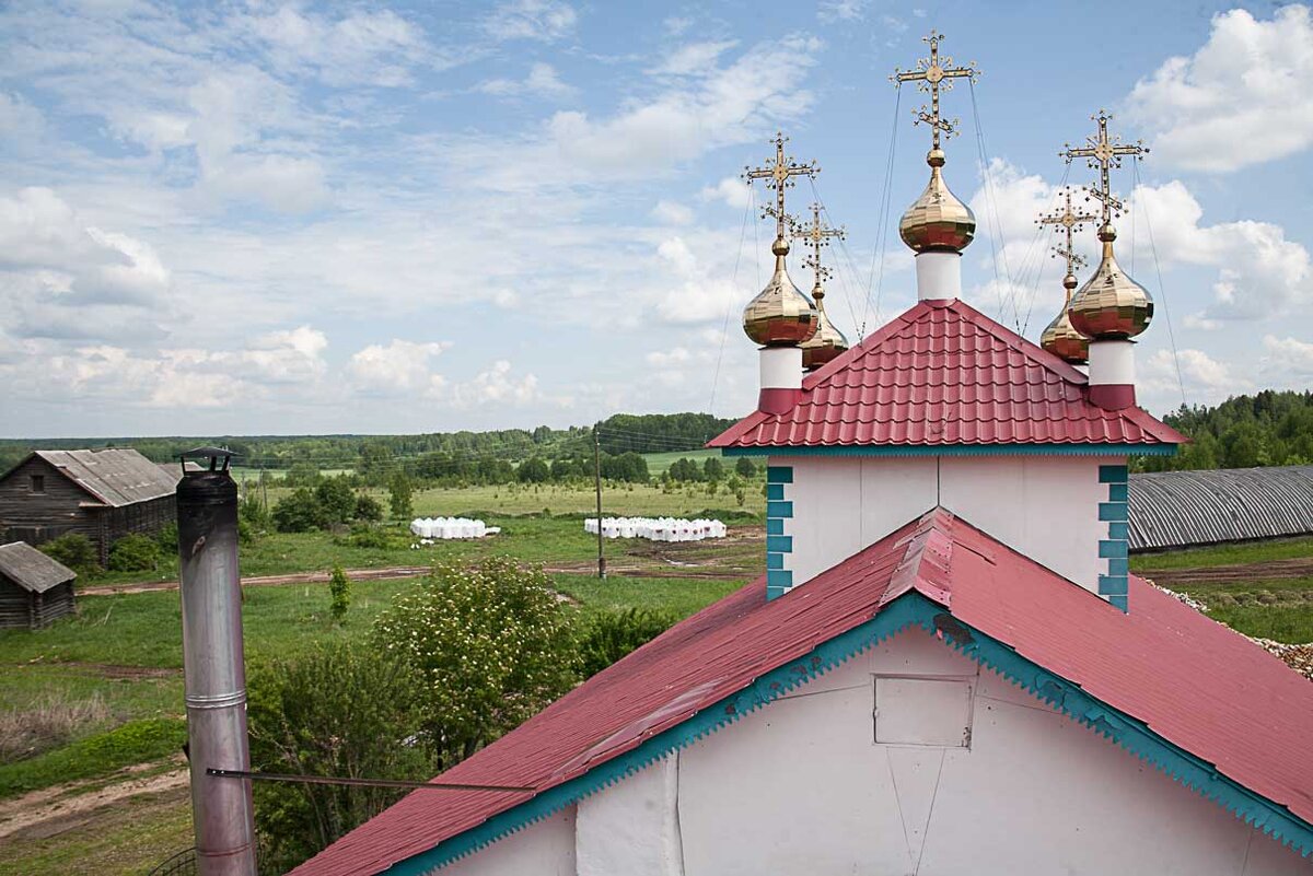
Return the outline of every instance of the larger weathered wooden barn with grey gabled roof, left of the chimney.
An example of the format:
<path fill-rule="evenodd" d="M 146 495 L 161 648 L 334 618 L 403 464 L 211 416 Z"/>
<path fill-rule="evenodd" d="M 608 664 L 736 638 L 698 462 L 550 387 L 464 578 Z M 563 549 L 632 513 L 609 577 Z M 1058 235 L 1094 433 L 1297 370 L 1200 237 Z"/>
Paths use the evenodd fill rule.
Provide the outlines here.
<path fill-rule="evenodd" d="M 81 532 L 100 563 L 130 532 L 155 535 L 177 518 L 176 467 L 135 450 L 38 450 L 0 475 L 0 543 L 41 544 Z"/>

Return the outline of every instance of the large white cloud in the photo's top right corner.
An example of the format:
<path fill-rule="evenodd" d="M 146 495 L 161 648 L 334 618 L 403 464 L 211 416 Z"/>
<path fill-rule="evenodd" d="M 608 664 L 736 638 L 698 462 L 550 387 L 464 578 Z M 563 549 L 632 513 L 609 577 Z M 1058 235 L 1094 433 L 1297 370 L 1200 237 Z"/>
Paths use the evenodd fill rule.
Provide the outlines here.
<path fill-rule="evenodd" d="M 1208 42 L 1170 58 L 1127 100 L 1154 153 L 1192 170 L 1226 173 L 1313 144 L 1313 21 L 1305 5 L 1257 20 L 1213 17 Z"/>

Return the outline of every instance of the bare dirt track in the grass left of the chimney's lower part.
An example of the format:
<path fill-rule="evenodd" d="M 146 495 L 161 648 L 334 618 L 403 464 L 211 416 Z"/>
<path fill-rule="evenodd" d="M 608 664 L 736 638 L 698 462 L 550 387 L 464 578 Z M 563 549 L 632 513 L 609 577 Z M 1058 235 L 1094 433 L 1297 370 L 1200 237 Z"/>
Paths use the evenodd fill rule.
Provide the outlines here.
<path fill-rule="evenodd" d="M 175 765 L 180 761 L 175 762 Z M 119 800 L 139 793 L 159 793 L 185 788 L 186 768 L 173 768 L 168 772 L 134 778 L 134 772 L 150 770 L 156 765 L 142 763 L 122 771 L 122 782 L 108 784 L 95 791 L 77 793 L 95 782 L 71 782 L 53 788 L 42 788 L 21 797 L 0 800 L 0 847 L 7 842 L 21 842 L 25 838 L 41 839 L 75 827 L 91 813 Z M 21 835 L 20 835 L 21 834 Z"/>

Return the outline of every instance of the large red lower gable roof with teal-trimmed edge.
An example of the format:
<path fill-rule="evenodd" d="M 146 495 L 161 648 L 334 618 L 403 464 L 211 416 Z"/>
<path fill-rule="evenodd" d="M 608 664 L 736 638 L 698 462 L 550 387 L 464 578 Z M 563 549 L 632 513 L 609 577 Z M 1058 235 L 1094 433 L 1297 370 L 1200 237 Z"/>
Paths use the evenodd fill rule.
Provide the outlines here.
<path fill-rule="evenodd" d="M 1313 685 L 1140 578 L 1123 614 L 939 509 L 777 599 L 765 599 L 762 581 L 743 587 L 441 776 L 534 793 L 414 792 L 293 872 L 377 873 L 425 852 L 634 750 L 913 591 L 1313 821 Z"/>

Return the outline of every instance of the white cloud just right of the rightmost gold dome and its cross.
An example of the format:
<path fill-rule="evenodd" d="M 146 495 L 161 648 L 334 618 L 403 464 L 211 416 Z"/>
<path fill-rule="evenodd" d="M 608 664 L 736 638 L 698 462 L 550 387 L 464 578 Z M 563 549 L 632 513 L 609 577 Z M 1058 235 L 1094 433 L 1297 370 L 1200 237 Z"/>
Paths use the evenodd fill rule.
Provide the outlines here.
<path fill-rule="evenodd" d="M 1201 325 L 1228 319 L 1281 316 L 1313 300 L 1309 252 L 1285 239 L 1280 226 L 1242 219 L 1204 226 L 1203 207 L 1179 181 L 1140 186 L 1132 194 L 1136 233 L 1148 239 L 1153 226 L 1158 257 L 1216 268 L 1212 304 L 1199 315 Z"/>

